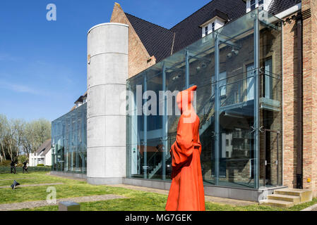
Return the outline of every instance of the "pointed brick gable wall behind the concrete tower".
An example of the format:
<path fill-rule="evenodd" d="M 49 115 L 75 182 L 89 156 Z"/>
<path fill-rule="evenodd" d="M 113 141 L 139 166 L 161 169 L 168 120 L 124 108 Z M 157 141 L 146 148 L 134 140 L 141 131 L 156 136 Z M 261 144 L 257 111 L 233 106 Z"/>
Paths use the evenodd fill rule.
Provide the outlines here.
<path fill-rule="evenodd" d="M 122 10 L 121 6 L 117 3 L 114 4 L 112 11 L 111 23 L 124 23 L 128 27 L 128 78 L 137 75 L 139 72 L 149 68 L 156 63 L 155 57 L 152 56 L 152 60 L 148 63 L 148 59 L 151 58 L 148 51 L 143 46 L 142 41 L 136 34 L 131 23 L 129 22 L 126 14 Z"/>

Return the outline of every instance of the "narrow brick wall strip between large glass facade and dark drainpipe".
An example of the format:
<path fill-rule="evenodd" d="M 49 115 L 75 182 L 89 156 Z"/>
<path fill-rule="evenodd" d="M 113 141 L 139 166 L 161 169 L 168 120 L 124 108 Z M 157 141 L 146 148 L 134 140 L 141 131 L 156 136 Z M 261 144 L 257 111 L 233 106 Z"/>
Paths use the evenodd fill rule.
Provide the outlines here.
<path fill-rule="evenodd" d="M 291 17 L 283 25 L 283 184 L 296 188 L 297 129 L 297 21 Z"/>

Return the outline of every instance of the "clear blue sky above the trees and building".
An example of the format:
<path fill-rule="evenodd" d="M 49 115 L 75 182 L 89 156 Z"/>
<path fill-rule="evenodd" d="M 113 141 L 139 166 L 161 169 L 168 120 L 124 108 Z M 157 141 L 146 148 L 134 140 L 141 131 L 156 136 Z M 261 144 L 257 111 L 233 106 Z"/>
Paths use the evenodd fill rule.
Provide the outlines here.
<path fill-rule="evenodd" d="M 126 13 L 170 28 L 210 0 L 117 0 Z M 87 32 L 110 20 L 112 0 L 0 1 L 0 114 L 54 120 L 87 88 Z M 56 21 L 47 21 L 55 4 Z"/>

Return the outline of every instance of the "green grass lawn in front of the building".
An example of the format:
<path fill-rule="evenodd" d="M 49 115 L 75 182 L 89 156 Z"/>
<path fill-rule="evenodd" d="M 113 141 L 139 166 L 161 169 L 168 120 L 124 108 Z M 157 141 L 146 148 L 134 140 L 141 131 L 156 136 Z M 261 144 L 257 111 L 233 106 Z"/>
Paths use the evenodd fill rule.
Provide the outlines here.
<path fill-rule="evenodd" d="M 21 185 L 23 184 L 51 184 L 63 183 L 63 185 L 54 185 L 56 187 L 57 198 L 71 198 L 88 195 L 115 194 L 126 198 L 105 200 L 94 203 L 80 203 L 81 210 L 90 211 L 163 211 L 167 195 L 158 193 L 149 193 L 144 191 L 135 191 L 128 188 L 119 188 L 111 186 L 92 186 L 85 181 L 65 179 L 56 176 L 49 176 L 47 172 L 33 172 L 30 174 L 0 174 L 0 186 L 12 184 L 14 179 Z M 24 179 L 21 179 L 24 178 Z M 11 179 L 10 181 L 3 181 Z M 0 204 L 4 203 L 22 203 L 35 200 L 46 200 L 48 186 L 22 187 L 11 190 L 11 188 L 0 188 Z M 206 210 L 210 211 L 282 211 L 282 210 L 302 210 L 310 205 L 317 203 L 315 198 L 311 203 L 304 203 L 288 209 L 274 208 L 263 205 L 237 206 L 220 205 L 215 203 L 206 203 Z M 37 207 L 35 209 L 25 209 L 35 211 L 58 210 L 57 206 Z"/>

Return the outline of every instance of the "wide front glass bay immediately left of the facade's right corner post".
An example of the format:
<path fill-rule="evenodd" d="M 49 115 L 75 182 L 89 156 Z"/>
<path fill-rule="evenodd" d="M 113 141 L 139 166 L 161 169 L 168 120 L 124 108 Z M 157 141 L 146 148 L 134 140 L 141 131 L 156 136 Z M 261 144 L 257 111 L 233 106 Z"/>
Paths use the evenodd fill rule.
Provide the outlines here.
<path fill-rule="evenodd" d="M 243 18 L 241 18 L 243 19 Z M 239 19 L 239 20 L 241 20 Z M 249 25 L 249 27 L 246 27 Z M 252 23 L 240 33 L 225 27 L 220 38 L 219 184 L 254 187 L 254 35 Z M 230 30 L 227 30 L 230 29 Z M 225 34 L 225 35 L 224 35 Z M 217 160 L 217 159 L 216 159 Z"/>

